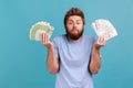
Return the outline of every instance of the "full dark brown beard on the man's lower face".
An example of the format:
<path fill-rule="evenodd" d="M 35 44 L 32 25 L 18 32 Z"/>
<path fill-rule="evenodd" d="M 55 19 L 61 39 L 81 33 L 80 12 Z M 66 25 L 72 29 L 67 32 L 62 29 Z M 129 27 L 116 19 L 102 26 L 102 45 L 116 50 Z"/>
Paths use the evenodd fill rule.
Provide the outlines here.
<path fill-rule="evenodd" d="M 66 36 L 70 37 L 71 40 L 73 40 L 73 41 L 76 41 L 76 40 L 79 40 L 82 36 L 83 30 L 81 32 L 78 30 L 78 33 L 72 33 L 73 31 L 74 30 L 72 30 L 72 31 L 69 32 L 66 30 Z"/>

